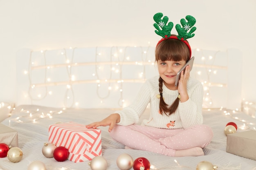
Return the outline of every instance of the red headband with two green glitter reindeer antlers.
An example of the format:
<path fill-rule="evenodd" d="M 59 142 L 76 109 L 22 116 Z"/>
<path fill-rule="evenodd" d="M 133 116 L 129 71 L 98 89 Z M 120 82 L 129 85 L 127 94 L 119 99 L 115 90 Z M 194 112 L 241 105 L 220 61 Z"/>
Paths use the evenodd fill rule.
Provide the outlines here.
<path fill-rule="evenodd" d="M 162 42 L 163 40 L 170 39 L 170 38 L 181 40 L 189 47 L 190 56 L 191 56 L 191 47 L 190 47 L 189 43 L 185 40 L 192 38 L 195 35 L 195 34 L 193 34 L 193 32 L 196 30 L 196 27 L 194 26 L 195 18 L 191 15 L 187 15 L 186 20 L 188 22 L 186 22 L 186 20 L 182 18 L 180 20 L 180 23 L 182 25 L 176 24 L 176 26 L 175 26 L 176 31 L 178 32 L 178 35 L 176 37 L 176 36 L 171 36 L 171 30 L 173 29 L 173 22 L 167 23 L 168 17 L 164 16 L 163 19 L 162 19 L 162 17 L 163 17 L 162 13 L 156 13 L 153 17 L 154 21 L 156 22 L 154 24 L 154 27 L 155 27 L 155 29 L 157 29 L 157 30 L 155 30 L 155 33 L 162 37 L 162 39 L 157 43 L 157 45 L 160 42 Z"/>

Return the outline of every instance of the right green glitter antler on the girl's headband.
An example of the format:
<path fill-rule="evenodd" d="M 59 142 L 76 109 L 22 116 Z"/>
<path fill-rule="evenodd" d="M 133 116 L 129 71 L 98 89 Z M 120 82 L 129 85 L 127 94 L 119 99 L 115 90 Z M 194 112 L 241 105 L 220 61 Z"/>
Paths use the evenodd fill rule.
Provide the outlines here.
<path fill-rule="evenodd" d="M 188 22 L 186 22 L 186 20 Z M 191 15 L 187 15 L 186 16 L 186 20 L 184 18 L 182 18 L 180 20 L 180 23 L 182 24 L 182 26 L 180 24 L 176 24 L 175 28 L 178 32 L 178 36 L 177 38 L 179 38 L 180 40 L 183 38 L 184 40 L 192 38 L 195 34 L 193 34 L 193 32 L 196 30 L 195 25 L 195 18 Z M 192 27 L 194 26 L 194 27 Z M 189 31 L 190 29 L 190 31 Z M 189 31 L 189 32 L 187 32 Z"/>

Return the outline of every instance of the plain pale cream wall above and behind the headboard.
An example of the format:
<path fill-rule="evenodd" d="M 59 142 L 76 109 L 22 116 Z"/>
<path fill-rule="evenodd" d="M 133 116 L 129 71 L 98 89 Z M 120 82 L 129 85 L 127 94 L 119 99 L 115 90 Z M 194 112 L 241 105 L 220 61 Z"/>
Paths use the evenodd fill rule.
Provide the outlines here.
<path fill-rule="evenodd" d="M 18 50 L 155 46 L 157 12 L 174 24 L 186 15 L 196 18 L 193 49 L 239 49 L 242 96 L 256 101 L 255 8 L 255 0 L 0 0 L 0 102 L 16 101 Z"/>

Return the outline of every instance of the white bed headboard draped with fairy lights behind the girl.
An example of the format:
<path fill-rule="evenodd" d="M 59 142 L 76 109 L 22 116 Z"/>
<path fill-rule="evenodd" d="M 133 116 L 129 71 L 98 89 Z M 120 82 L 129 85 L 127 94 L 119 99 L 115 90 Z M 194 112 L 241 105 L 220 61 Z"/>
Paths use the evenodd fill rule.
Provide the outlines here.
<path fill-rule="evenodd" d="M 191 76 L 204 86 L 204 108 L 240 109 L 241 62 L 237 49 L 193 49 Z M 122 108 L 142 83 L 158 75 L 154 47 L 94 47 L 17 52 L 16 105 Z M 234 60 L 235 59 L 235 60 Z"/>

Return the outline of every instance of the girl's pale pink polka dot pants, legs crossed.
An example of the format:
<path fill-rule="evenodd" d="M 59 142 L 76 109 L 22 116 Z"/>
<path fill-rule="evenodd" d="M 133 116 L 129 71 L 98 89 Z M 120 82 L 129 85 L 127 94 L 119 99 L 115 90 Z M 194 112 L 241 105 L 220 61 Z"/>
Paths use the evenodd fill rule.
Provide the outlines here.
<path fill-rule="evenodd" d="M 133 149 L 146 150 L 168 156 L 175 156 L 176 150 L 193 147 L 204 148 L 213 138 L 207 125 L 196 125 L 187 129 L 162 129 L 149 126 L 119 126 L 110 132 L 116 141 Z"/>

